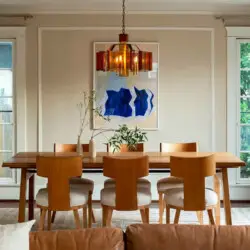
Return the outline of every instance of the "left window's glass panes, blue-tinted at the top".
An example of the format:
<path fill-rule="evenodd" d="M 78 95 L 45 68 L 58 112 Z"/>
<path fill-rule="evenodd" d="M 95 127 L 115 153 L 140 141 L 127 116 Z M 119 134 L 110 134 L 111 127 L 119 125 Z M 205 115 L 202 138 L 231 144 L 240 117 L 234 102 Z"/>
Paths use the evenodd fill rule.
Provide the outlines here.
<path fill-rule="evenodd" d="M 13 115 L 13 48 L 11 40 L 0 40 L 0 165 L 10 158 L 14 149 Z M 12 172 L 0 168 L 0 177 L 11 177 Z"/>

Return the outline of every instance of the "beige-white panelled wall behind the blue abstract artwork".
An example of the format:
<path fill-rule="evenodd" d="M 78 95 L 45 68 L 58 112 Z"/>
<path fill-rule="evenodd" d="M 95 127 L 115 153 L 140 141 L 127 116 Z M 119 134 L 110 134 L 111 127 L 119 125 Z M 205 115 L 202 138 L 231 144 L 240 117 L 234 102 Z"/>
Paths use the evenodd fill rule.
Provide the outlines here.
<path fill-rule="evenodd" d="M 226 32 L 222 22 L 212 16 L 190 15 L 129 15 L 127 20 L 128 27 L 138 27 L 128 31 L 131 41 L 160 44 L 160 129 L 148 133 L 146 151 L 157 151 L 163 141 L 198 141 L 200 151 L 226 151 Z M 28 21 L 27 150 L 36 150 L 40 143 L 41 149 L 52 151 L 54 142 L 76 142 L 76 103 L 80 91 L 91 89 L 93 80 L 92 44 L 116 41 L 119 31 L 103 27 L 117 26 L 119 15 L 51 15 Z M 87 130 L 83 142 L 89 136 Z M 105 150 L 103 137 L 96 142 L 98 150 Z M 159 177 L 150 177 L 152 186 Z M 101 177 L 93 178 L 98 197 Z M 38 179 L 37 185 L 42 183 Z"/>

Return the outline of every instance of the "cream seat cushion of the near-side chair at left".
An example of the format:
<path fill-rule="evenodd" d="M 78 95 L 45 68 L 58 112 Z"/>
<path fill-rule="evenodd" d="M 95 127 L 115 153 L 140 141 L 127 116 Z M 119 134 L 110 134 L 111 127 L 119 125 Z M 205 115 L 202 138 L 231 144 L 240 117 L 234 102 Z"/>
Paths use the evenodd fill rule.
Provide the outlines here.
<path fill-rule="evenodd" d="M 70 206 L 81 206 L 88 203 L 89 191 L 83 189 L 81 186 L 70 186 Z M 37 205 L 48 207 L 48 189 L 42 188 L 38 191 L 36 195 Z"/>

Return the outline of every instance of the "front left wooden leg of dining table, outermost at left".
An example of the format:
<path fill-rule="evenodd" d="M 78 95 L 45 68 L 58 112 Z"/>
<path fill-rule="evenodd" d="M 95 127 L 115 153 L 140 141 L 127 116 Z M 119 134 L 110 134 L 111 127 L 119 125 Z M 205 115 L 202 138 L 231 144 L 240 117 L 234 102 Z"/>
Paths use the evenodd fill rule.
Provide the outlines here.
<path fill-rule="evenodd" d="M 27 183 L 26 173 L 27 173 L 27 170 L 25 168 L 22 168 L 22 170 L 21 170 L 21 183 L 20 183 L 18 222 L 25 221 L 26 183 Z"/>

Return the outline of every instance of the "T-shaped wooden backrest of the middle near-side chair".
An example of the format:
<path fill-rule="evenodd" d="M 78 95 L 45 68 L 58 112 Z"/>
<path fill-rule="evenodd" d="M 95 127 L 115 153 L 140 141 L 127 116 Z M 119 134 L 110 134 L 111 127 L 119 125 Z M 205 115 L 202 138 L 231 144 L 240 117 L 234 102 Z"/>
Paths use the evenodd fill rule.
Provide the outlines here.
<path fill-rule="evenodd" d="M 148 156 L 103 157 L 103 175 L 116 181 L 116 210 L 137 210 L 137 179 L 149 173 Z"/>

